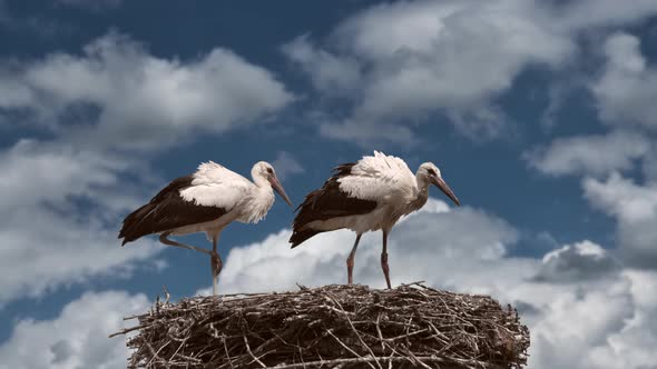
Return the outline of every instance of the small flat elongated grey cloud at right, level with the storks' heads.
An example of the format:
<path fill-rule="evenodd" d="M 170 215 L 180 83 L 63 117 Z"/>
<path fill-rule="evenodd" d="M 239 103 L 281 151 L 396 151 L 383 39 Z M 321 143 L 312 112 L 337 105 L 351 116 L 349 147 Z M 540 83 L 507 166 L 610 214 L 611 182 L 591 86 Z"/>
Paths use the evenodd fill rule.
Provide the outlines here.
<path fill-rule="evenodd" d="M 645 134 L 612 131 L 607 134 L 568 137 L 524 153 L 528 163 L 549 176 L 604 176 L 630 169 L 646 156 L 651 142 Z"/>

